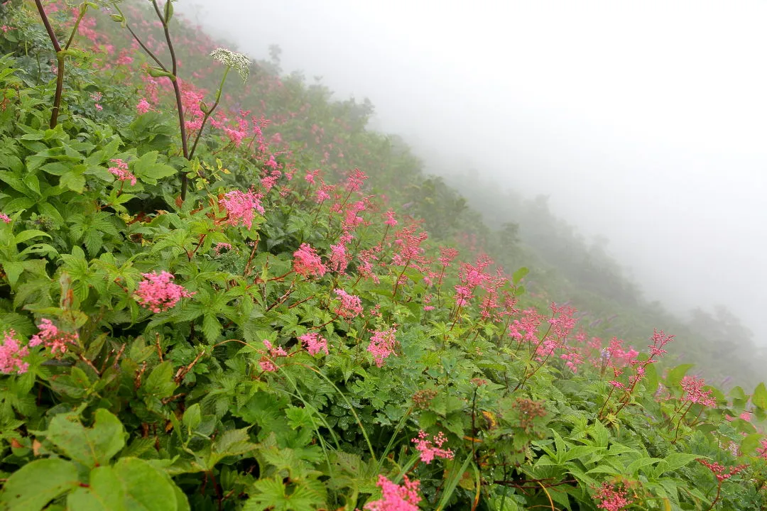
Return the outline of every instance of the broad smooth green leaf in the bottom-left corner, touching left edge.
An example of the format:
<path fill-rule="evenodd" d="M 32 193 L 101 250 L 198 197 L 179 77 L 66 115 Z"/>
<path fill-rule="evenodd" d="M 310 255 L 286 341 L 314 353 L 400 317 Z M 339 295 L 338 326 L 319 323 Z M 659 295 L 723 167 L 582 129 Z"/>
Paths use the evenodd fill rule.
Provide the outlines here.
<path fill-rule="evenodd" d="M 0 493 L 2 511 L 39 511 L 80 485 L 77 467 L 60 458 L 34 460 L 8 477 Z"/>

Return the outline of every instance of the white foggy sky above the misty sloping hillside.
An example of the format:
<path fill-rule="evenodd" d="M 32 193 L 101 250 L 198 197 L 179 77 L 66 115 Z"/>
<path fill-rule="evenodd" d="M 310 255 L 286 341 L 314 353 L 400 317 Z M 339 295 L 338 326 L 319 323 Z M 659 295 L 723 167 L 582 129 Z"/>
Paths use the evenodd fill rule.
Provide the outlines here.
<path fill-rule="evenodd" d="M 767 343 L 767 2 L 183 0 L 377 126 L 604 234 L 647 296 Z"/>

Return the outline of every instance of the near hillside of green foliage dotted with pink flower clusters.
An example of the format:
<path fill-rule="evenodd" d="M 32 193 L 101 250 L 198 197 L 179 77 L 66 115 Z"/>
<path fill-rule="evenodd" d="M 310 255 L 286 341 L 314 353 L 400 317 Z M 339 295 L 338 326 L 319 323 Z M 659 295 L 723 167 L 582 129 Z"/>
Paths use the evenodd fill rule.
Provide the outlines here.
<path fill-rule="evenodd" d="M 765 508 L 767 388 L 528 293 L 369 104 L 173 4 L 0 25 L 0 508 Z"/>

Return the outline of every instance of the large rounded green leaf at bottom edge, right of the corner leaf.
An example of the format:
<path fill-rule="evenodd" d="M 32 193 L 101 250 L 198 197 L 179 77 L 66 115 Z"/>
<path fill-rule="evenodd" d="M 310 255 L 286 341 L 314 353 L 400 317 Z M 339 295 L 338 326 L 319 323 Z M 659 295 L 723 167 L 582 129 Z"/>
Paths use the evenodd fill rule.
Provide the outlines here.
<path fill-rule="evenodd" d="M 168 511 L 179 506 L 176 485 L 166 473 L 145 460 L 123 457 L 114 467 L 91 470 L 87 488 L 78 488 L 67 498 L 67 507 L 77 511 Z"/>

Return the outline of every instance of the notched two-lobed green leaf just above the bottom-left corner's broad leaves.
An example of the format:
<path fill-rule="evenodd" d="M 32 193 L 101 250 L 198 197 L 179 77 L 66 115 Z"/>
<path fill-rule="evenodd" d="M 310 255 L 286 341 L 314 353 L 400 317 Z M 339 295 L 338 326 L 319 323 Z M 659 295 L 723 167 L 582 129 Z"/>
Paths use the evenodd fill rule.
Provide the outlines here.
<path fill-rule="evenodd" d="M 72 460 L 87 467 L 106 465 L 125 445 L 125 431 L 120 419 L 99 408 L 93 427 L 71 420 L 70 414 L 58 414 L 48 427 L 48 440 Z"/>

